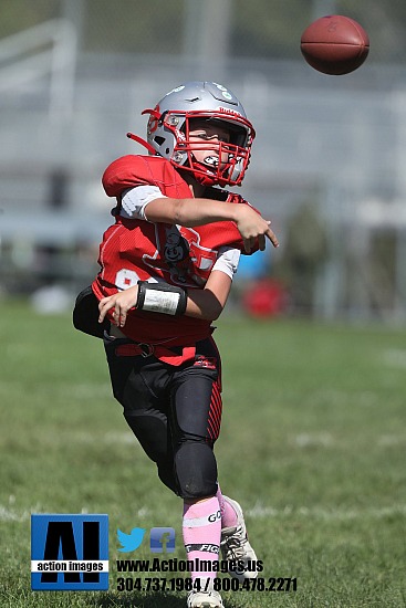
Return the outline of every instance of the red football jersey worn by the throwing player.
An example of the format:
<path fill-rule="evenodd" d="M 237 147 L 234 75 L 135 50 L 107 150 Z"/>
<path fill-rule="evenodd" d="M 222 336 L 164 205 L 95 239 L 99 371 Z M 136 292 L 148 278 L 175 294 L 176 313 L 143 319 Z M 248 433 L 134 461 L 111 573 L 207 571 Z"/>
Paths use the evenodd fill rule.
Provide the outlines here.
<path fill-rule="evenodd" d="M 166 197 L 191 196 L 188 185 L 170 163 L 157 156 L 124 156 L 112 163 L 103 176 L 104 189 L 110 197 L 117 198 L 118 207 L 124 190 L 145 185 L 157 186 Z M 246 202 L 238 195 L 225 192 L 225 199 L 227 196 L 230 203 Z M 187 290 L 202 289 L 222 245 L 243 249 L 241 235 L 231 221 L 185 228 L 117 214 L 115 224 L 106 230 L 100 245 L 101 271 L 92 284 L 93 291 L 101 300 L 135 285 L 138 280 L 150 279 Z M 111 313 L 108 318 L 112 321 Z M 162 345 L 155 350 L 163 359 L 163 348 L 189 347 L 212 332 L 209 321 L 135 308 L 127 315 L 122 331 L 136 342 Z M 159 350 L 164 353 L 162 356 Z M 175 357 L 170 363 L 179 364 L 184 359 Z"/>

